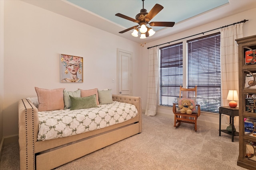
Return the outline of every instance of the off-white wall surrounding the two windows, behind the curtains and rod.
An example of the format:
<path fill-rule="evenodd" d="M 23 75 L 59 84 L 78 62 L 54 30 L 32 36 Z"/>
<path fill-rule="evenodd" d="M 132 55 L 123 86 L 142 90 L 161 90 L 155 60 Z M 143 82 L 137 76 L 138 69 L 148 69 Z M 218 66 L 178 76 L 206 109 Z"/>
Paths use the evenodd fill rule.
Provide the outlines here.
<path fill-rule="evenodd" d="M 244 25 L 243 25 L 243 35 L 244 35 L 244 37 L 247 37 L 247 36 L 250 36 L 250 35 L 255 35 L 256 34 L 255 10 L 256 10 L 256 8 L 254 8 L 252 10 L 248 10 L 246 12 L 242 12 L 240 14 L 236 14 L 234 16 L 230 16 L 228 18 L 223 18 L 223 19 L 218 20 L 218 21 L 214 21 L 214 22 L 211 22 L 211 23 L 208 23 L 208 24 L 205 24 L 205 25 L 195 27 L 194 29 L 189 29 L 187 31 L 183 31 L 183 32 L 168 36 L 168 37 L 165 37 L 163 39 L 159 39 L 159 40 L 154 41 L 154 42 L 147 43 L 144 46 L 143 51 L 142 51 L 142 53 L 143 53 L 143 57 L 142 57 L 143 58 L 143 63 L 142 63 L 142 68 L 143 68 L 142 69 L 142 75 L 143 75 L 142 82 L 143 82 L 143 84 L 142 84 L 142 86 L 144 87 L 144 88 L 142 88 L 142 90 L 143 90 L 142 98 L 144 98 L 144 100 L 142 100 L 142 108 L 146 108 L 146 98 L 147 98 L 147 88 L 146 87 L 148 86 L 148 82 L 147 82 L 148 78 L 147 77 L 148 77 L 148 55 L 149 55 L 149 50 L 147 49 L 147 47 L 152 47 L 152 46 L 159 45 L 159 44 L 162 44 L 162 43 L 167 43 L 167 42 L 170 42 L 170 41 L 175 41 L 177 39 L 182 39 L 184 37 L 188 37 L 188 36 L 191 36 L 191 35 L 202 33 L 202 32 L 205 32 L 205 31 L 209 31 L 209 30 L 212 30 L 212 29 L 215 29 L 215 28 L 218 28 L 218 27 L 222 27 L 224 25 L 229 25 L 229 24 L 232 24 L 232 23 L 235 23 L 235 22 L 238 22 L 238 21 L 242 21 L 244 19 L 249 20 L 246 23 L 244 23 Z M 174 25 L 174 27 L 175 27 L 175 25 Z M 211 32 L 205 33 L 204 35 L 209 35 L 209 34 L 216 33 L 216 32 L 219 32 L 219 30 L 211 31 Z M 193 39 L 193 38 L 201 37 L 201 36 L 204 36 L 204 35 L 200 34 L 200 35 L 197 35 L 197 36 L 194 36 L 194 37 L 190 37 L 188 39 Z M 183 43 L 186 44 L 186 41 L 188 39 L 175 41 L 175 42 L 170 43 L 170 44 L 178 43 L 178 42 L 181 42 L 181 41 L 183 41 Z M 169 45 L 169 44 L 166 44 L 166 45 Z M 166 45 L 161 45 L 159 47 L 164 47 Z M 184 49 L 183 54 L 184 54 L 184 56 L 186 56 L 186 49 Z M 185 61 L 186 61 L 186 59 L 184 59 L 184 62 Z M 172 108 L 168 108 L 168 107 L 158 107 L 157 114 L 158 115 L 164 115 L 166 117 L 173 117 L 174 116 L 173 112 L 172 112 Z M 203 115 L 201 115 L 198 118 L 198 123 L 199 124 L 205 124 L 205 125 L 212 124 L 212 126 L 218 128 L 219 115 L 218 114 L 203 113 Z M 224 115 L 224 118 L 222 118 L 222 124 L 224 125 L 224 127 L 226 127 L 226 125 L 229 125 L 229 117 L 226 117 Z M 236 126 L 238 126 L 238 117 L 236 117 L 235 124 L 236 124 Z M 236 128 L 236 129 L 238 129 L 238 128 Z"/>

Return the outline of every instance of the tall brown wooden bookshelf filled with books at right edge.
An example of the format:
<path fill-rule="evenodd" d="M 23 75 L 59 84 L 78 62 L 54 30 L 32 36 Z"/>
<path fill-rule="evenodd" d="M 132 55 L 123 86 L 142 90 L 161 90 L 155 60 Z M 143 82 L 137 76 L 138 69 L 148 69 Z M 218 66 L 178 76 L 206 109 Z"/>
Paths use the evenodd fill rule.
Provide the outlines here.
<path fill-rule="evenodd" d="M 236 39 L 239 68 L 239 156 L 237 165 L 256 169 L 256 35 Z"/>

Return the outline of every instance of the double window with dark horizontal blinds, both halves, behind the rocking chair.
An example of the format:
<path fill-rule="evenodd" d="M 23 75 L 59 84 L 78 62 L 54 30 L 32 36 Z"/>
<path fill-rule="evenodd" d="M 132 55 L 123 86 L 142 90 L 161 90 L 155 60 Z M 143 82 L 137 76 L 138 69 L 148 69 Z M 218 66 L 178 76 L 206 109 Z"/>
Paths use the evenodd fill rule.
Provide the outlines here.
<path fill-rule="evenodd" d="M 201 111 L 218 113 L 220 106 L 220 33 L 187 41 L 187 63 L 183 63 L 183 44 L 160 48 L 160 106 L 177 102 L 183 85 L 183 64 L 187 64 L 188 88 L 197 86 Z"/>

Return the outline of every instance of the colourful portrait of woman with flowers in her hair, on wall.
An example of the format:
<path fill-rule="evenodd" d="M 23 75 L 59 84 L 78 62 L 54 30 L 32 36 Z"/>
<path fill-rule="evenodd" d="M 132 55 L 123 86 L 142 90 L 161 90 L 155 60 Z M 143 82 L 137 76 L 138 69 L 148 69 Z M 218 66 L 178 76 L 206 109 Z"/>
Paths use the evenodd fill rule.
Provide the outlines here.
<path fill-rule="evenodd" d="M 60 55 L 60 82 L 83 82 L 83 57 Z"/>

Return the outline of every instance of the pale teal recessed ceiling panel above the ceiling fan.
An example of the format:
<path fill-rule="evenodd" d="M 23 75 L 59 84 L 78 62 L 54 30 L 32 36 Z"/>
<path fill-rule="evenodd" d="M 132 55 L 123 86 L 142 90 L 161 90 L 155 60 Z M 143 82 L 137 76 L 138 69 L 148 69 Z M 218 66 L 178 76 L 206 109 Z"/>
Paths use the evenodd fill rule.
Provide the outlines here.
<path fill-rule="evenodd" d="M 68 0 L 68 2 L 118 25 L 122 25 L 125 28 L 137 24 L 117 17 L 115 14 L 121 13 L 135 18 L 143 7 L 142 0 Z M 228 4 L 228 0 L 145 0 L 144 9 L 149 12 L 155 4 L 164 6 L 164 9 L 151 21 L 174 21 L 178 23 Z M 154 27 L 154 30 L 156 31 L 162 28 L 164 27 Z"/>

